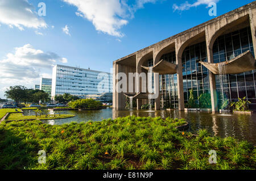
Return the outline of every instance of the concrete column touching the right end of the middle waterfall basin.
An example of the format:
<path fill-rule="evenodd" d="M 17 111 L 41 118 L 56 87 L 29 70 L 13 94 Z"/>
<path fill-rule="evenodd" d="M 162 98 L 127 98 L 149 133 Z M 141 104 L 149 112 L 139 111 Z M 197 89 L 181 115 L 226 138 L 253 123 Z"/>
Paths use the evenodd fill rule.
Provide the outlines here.
<path fill-rule="evenodd" d="M 184 90 L 183 90 L 183 74 L 182 74 L 182 53 L 179 52 L 177 41 L 175 42 L 175 53 L 176 53 L 176 62 L 177 62 L 177 94 L 179 100 L 179 111 L 184 111 Z M 179 54 L 180 53 L 180 54 Z"/>

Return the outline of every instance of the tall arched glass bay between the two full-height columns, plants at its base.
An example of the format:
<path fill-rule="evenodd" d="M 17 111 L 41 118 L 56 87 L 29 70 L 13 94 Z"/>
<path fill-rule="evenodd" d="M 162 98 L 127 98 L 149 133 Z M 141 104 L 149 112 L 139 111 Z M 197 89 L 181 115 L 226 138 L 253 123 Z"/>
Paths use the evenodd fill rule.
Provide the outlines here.
<path fill-rule="evenodd" d="M 189 91 L 193 90 L 196 104 L 199 96 L 210 92 L 209 71 L 199 61 L 207 62 L 207 49 L 205 41 L 185 48 L 182 55 L 184 103 L 188 103 Z"/>

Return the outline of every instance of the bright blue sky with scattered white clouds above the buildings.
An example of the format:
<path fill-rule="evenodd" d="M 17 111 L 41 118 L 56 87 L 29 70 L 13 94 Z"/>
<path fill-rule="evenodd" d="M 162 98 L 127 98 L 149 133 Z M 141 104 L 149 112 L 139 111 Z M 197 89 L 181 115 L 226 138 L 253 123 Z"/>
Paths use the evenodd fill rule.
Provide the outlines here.
<path fill-rule="evenodd" d="M 0 98 L 51 78 L 55 64 L 110 72 L 113 61 L 252 0 L 0 0 Z"/>

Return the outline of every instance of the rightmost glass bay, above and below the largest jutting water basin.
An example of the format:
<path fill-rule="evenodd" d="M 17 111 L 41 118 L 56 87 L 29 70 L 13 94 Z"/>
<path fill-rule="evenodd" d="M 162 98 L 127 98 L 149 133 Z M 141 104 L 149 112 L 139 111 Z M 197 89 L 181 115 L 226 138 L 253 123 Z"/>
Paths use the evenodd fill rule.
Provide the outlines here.
<path fill-rule="evenodd" d="M 232 60 L 247 50 L 254 56 L 250 27 L 218 37 L 213 45 L 214 63 Z M 251 102 L 250 108 L 255 110 L 255 76 L 256 70 L 241 74 L 216 75 L 218 107 L 221 107 L 222 100 L 236 102 L 238 98 L 246 97 Z"/>

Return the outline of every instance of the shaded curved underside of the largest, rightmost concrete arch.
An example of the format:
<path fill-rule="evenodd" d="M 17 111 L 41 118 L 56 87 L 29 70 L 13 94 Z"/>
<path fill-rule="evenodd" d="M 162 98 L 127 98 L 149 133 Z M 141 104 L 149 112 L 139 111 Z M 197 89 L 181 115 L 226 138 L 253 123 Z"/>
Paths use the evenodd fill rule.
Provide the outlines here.
<path fill-rule="evenodd" d="M 212 48 L 213 48 L 213 44 L 215 43 L 215 41 L 217 40 L 217 38 L 221 35 L 224 35 L 226 33 L 229 32 L 233 32 L 233 31 L 237 31 L 240 30 L 242 28 L 245 28 L 247 26 L 250 26 L 250 18 L 249 18 L 249 14 L 242 16 L 241 18 L 235 19 L 232 22 L 225 24 L 225 26 L 221 26 L 219 28 L 216 28 L 216 26 L 208 27 L 208 31 L 209 30 L 214 30 L 214 33 L 212 34 L 212 36 L 209 36 L 209 49 L 210 49 L 210 53 L 212 54 Z"/>

